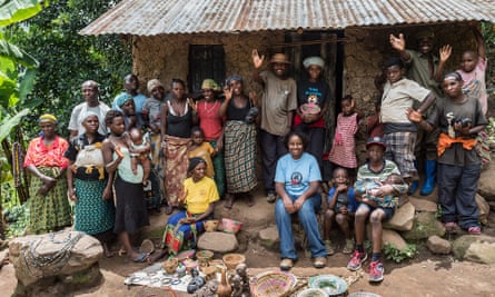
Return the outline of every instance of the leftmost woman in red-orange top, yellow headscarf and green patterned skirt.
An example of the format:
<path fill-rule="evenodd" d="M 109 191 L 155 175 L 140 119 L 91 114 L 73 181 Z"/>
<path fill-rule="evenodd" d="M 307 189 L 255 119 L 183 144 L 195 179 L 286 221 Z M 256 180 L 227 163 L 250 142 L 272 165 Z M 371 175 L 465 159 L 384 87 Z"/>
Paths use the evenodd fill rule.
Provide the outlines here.
<path fill-rule="evenodd" d="M 57 136 L 57 118 L 42 115 L 39 119 L 41 136 L 29 142 L 23 167 L 33 176 L 29 187 L 29 234 L 57 231 L 72 224 L 67 200 L 63 157 L 69 143 Z"/>

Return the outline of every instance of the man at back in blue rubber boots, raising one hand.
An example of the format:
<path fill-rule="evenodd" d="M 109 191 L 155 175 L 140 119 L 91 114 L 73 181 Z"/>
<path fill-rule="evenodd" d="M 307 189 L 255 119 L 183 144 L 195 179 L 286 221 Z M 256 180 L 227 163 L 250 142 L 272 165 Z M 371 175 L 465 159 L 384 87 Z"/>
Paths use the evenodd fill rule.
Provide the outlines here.
<path fill-rule="evenodd" d="M 422 30 L 416 34 L 417 50 L 406 49 L 406 41 L 404 34 L 398 37 L 390 34 L 389 41 L 392 48 L 397 50 L 402 60 L 408 68 L 408 78 L 416 81 L 424 88 L 430 90 L 436 98 L 442 97 L 442 90 L 439 82 L 443 80 L 443 67 L 439 63 L 438 57 L 433 53 L 435 33 L 430 30 Z M 440 56 L 452 50 L 451 46 L 444 46 L 440 48 Z M 417 108 L 417 106 L 415 106 Z M 429 111 L 427 112 L 429 113 Z M 419 157 L 422 148 L 424 148 L 425 159 L 425 184 L 420 190 L 420 195 L 427 196 L 432 194 L 435 188 L 436 178 L 436 143 L 438 139 L 438 129 L 434 129 L 430 132 L 423 130 L 418 131 L 415 155 Z M 418 184 L 413 182 L 409 189 L 409 194 L 413 194 Z"/>

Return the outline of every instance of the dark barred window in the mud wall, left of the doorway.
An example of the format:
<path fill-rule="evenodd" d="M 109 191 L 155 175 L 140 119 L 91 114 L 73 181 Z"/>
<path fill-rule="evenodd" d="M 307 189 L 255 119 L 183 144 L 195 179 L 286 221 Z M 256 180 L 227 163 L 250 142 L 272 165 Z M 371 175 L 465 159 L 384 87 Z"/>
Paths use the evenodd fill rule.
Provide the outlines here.
<path fill-rule="evenodd" d="M 200 92 L 206 78 L 212 78 L 218 83 L 225 79 L 225 51 L 220 44 L 191 44 L 189 48 L 189 91 Z"/>

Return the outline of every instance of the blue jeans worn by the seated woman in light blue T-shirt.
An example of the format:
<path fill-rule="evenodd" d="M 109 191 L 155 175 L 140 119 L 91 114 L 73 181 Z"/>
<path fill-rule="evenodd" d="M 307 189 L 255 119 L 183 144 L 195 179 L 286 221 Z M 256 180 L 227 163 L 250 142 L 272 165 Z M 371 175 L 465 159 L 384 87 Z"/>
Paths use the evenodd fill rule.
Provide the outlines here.
<path fill-rule="evenodd" d="M 293 201 L 297 199 L 297 197 L 290 198 Z M 297 212 L 299 222 L 306 232 L 313 258 L 327 256 L 327 250 L 325 249 L 325 245 L 319 234 L 318 220 L 316 219 L 316 212 L 319 210 L 320 205 L 321 196 L 316 194 L 306 199 L 301 209 Z M 277 221 L 278 235 L 280 237 L 280 257 L 283 259 L 297 259 L 290 216 L 291 215 L 287 212 L 284 207 L 284 201 L 277 199 L 277 202 L 275 204 L 275 219 Z"/>

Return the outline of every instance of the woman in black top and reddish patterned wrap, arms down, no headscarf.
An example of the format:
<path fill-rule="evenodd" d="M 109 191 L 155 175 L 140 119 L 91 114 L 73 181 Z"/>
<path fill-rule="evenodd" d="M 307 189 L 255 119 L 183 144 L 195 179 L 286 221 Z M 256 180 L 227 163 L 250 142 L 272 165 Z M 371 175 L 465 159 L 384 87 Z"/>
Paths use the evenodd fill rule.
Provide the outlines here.
<path fill-rule="evenodd" d="M 170 215 L 178 206 L 180 185 L 187 175 L 187 154 L 192 125 L 198 122 L 196 111 L 186 97 L 186 83 L 180 79 L 171 81 L 172 98 L 161 107 L 161 149 L 165 156 L 166 214 Z"/>

